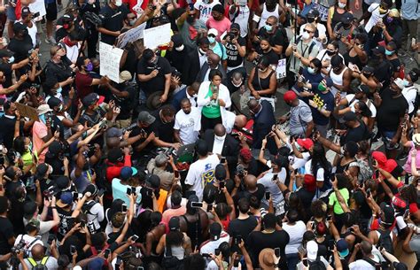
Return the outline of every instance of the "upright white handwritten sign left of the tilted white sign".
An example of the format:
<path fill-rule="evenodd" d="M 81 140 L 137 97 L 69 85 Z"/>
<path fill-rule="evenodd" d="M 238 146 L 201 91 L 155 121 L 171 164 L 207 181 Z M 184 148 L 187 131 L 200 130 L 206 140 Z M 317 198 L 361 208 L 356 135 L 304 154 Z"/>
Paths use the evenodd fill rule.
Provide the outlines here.
<path fill-rule="evenodd" d="M 99 60 L 101 76 L 108 76 L 108 78 L 115 82 L 120 82 L 120 60 L 123 50 L 113 48 L 104 42 L 99 42 Z"/>

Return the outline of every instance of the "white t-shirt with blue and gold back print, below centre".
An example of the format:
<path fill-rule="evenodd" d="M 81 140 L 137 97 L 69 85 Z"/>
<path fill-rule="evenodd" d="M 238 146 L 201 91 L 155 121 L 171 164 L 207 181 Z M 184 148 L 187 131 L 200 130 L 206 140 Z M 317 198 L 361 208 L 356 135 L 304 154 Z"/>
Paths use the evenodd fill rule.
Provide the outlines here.
<path fill-rule="evenodd" d="M 203 199 L 203 190 L 206 184 L 214 182 L 214 168 L 219 163 L 217 155 L 208 155 L 191 164 L 185 184 L 192 186 L 191 190 L 196 191 L 199 201 Z"/>

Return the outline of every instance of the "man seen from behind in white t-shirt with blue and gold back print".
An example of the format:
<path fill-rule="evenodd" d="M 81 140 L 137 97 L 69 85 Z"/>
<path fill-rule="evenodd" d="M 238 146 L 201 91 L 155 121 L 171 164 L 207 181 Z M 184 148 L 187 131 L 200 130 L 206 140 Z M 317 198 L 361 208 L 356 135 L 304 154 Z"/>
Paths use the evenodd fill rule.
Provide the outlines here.
<path fill-rule="evenodd" d="M 198 199 L 203 199 L 203 190 L 206 184 L 214 182 L 214 169 L 220 163 L 217 155 L 208 152 L 206 141 L 198 140 L 196 145 L 198 160 L 191 164 L 185 179 L 185 185 L 194 190 Z"/>

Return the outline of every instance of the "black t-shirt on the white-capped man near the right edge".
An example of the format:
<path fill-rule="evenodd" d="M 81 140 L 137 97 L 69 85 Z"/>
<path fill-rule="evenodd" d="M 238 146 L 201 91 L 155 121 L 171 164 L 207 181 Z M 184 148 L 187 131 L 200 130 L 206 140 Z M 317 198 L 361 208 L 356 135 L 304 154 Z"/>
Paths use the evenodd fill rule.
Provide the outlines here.
<path fill-rule="evenodd" d="M 393 98 L 391 89 L 386 88 L 380 94 L 382 104 L 377 108 L 377 127 L 382 131 L 396 131 L 400 125 L 400 118 L 408 110 L 408 103 L 404 96 Z"/>

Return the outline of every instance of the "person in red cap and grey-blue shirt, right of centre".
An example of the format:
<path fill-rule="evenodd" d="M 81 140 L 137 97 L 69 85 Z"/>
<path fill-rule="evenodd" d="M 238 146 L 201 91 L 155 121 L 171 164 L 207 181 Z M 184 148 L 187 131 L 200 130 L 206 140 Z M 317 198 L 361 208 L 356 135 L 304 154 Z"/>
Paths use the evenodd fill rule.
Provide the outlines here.
<path fill-rule="evenodd" d="M 314 129 L 314 121 L 312 120 L 312 112 L 309 106 L 299 100 L 298 95 L 292 90 L 284 93 L 284 102 L 291 106 L 288 116 L 281 117 L 281 123 L 289 120 L 290 135 L 294 137 L 305 138 L 311 135 Z"/>

